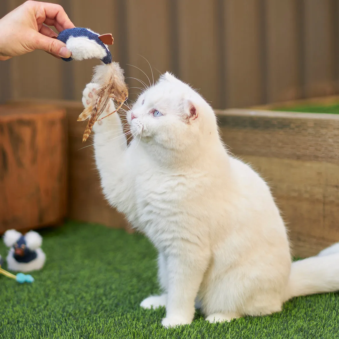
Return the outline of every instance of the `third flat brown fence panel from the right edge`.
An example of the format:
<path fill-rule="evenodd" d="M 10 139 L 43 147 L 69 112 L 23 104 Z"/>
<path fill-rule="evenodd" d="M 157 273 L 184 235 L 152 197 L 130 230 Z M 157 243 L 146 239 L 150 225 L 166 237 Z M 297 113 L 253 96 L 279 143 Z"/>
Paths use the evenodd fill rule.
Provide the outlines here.
<path fill-rule="evenodd" d="M 225 2 L 225 77 L 227 107 L 262 102 L 260 1 Z"/>

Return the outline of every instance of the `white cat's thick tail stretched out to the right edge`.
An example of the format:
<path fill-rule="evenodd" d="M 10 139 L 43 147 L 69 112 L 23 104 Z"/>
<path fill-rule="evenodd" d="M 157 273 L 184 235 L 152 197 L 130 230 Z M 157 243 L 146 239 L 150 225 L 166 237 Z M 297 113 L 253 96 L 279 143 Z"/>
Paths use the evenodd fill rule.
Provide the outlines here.
<path fill-rule="evenodd" d="M 336 291 L 339 291 L 339 243 L 317 256 L 292 263 L 285 300 Z"/>

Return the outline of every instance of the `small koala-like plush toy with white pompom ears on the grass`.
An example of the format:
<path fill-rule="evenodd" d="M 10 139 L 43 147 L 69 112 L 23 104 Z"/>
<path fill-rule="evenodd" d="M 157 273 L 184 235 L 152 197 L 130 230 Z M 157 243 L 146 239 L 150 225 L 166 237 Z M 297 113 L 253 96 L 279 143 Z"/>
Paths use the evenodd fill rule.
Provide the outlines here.
<path fill-rule="evenodd" d="M 31 272 L 43 267 L 46 255 L 40 248 L 42 237 L 37 232 L 22 235 L 16 230 L 8 230 L 4 234 L 4 243 L 10 247 L 6 258 L 8 270 Z"/>

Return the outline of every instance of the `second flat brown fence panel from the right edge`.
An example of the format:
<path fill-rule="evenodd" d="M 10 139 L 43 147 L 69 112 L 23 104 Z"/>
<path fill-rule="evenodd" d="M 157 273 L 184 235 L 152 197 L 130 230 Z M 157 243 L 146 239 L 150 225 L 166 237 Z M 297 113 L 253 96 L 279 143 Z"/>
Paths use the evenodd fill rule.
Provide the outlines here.
<path fill-rule="evenodd" d="M 267 101 L 297 99 L 302 93 L 298 73 L 297 3 L 265 0 L 265 4 Z"/>

